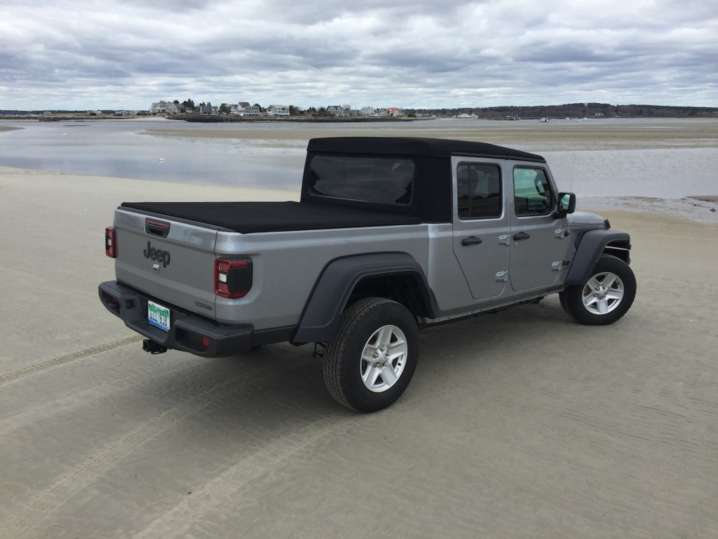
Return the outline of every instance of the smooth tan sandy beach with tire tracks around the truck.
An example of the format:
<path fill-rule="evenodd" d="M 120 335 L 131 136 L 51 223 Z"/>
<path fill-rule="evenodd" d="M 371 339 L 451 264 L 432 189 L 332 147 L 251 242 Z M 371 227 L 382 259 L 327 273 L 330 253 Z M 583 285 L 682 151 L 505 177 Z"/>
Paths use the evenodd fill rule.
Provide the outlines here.
<path fill-rule="evenodd" d="M 632 235 L 625 318 L 554 296 L 424 331 L 373 415 L 307 346 L 150 356 L 101 306 L 122 201 L 296 197 L 0 167 L 0 538 L 717 536 L 716 213 L 595 201 Z"/>

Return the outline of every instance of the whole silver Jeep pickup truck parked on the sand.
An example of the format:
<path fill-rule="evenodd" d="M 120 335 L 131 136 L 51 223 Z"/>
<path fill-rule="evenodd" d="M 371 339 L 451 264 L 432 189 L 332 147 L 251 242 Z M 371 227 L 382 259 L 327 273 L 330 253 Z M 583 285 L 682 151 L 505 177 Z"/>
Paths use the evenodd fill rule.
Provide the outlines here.
<path fill-rule="evenodd" d="M 123 203 L 99 293 L 154 354 L 314 344 L 332 397 L 373 412 L 406 390 L 426 326 L 552 293 L 583 324 L 628 311 L 630 236 L 575 205 L 516 149 L 312 139 L 299 202 Z"/>

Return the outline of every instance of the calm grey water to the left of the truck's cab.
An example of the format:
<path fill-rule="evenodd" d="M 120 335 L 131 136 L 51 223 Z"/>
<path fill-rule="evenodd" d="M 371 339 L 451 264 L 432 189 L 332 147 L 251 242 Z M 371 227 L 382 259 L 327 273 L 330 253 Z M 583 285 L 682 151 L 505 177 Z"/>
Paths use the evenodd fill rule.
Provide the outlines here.
<path fill-rule="evenodd" d="M 169 124 L 169 125 L 168 125 Z M 6 122 L 4 125 L 13 126 Z M 17 124 L 15 124 L 17 125 Z M 0 132 L 0 165 L 207 185 L 299 188 L 304 144 L 269 148 L 234 139 L 155 137 L 167 121 L 22 122 Z M 196 125 L 195 125 L 196 127 Z"/>

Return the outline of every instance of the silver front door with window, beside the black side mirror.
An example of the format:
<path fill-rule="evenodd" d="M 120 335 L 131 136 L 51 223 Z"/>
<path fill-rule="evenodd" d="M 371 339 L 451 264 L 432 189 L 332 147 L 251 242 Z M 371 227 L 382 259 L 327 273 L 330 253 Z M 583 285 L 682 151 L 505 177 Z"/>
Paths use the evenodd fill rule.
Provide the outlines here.
<path fill-rule="evenodd" d="M 541 165 L 511 167 L 511 249 L 508 275 L 515 291 L 551 285 L 561 274 L 563 231 L 553 217 L 554 183 Z"/>

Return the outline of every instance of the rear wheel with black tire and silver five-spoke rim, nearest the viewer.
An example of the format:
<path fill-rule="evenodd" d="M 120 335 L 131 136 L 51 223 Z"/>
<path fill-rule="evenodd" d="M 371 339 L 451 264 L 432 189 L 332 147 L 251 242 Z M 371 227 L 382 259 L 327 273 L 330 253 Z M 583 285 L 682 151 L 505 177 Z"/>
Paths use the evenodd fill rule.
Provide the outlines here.
<path fill-rule="evenodd" d="M 341 405 L 376 412 L 401 397 L 418 359 L 419 327 L 409 310 L 385 298 L 365 298 L 342 314 L 327 346 L 324 381 Z"/>

